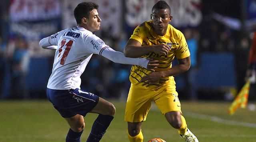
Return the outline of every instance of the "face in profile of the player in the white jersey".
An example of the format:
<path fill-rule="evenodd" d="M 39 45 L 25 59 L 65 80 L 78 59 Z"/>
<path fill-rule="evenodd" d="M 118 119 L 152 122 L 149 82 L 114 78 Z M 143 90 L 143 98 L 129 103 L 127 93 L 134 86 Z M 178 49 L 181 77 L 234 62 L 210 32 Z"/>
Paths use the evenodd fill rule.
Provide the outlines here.
<path fill-rule="evenodd" d="M 100 16 L 98 14 L 98 11 L 96 9 L 93 9 L 90 11 L 89 18 L 86 20 L 86 28 L 87 30 L 90 30 L 91 32 L 100 30 Z"/>

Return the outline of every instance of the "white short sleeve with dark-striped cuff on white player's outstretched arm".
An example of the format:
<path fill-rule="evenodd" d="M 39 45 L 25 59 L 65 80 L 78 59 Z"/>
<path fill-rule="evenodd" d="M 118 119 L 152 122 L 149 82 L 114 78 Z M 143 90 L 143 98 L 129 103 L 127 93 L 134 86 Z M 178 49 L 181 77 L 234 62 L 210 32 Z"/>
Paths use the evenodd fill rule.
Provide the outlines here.
<path fill-rule="evenodd" d="M 106 48 L 109 48 L 103 40 L 101 40 L 95 34 L 91 34 L 85 39 L 86 49 L 93 54 L 101 55 L 102 51 Z"/>

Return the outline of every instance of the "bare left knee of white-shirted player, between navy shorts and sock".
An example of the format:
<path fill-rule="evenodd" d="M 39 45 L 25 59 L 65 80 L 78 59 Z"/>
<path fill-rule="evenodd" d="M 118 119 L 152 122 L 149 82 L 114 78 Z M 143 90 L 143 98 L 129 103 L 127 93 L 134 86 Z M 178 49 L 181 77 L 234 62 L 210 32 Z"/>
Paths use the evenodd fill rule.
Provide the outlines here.
<path fill-rule="evenodd" d="M 68 122 L 70 128 L 74 132 L 81 132 L 84 130 L 84 117 L 80 114 L 76 114 L 75 116 L 72 116 L 70 118 L 65 118 Z"/>

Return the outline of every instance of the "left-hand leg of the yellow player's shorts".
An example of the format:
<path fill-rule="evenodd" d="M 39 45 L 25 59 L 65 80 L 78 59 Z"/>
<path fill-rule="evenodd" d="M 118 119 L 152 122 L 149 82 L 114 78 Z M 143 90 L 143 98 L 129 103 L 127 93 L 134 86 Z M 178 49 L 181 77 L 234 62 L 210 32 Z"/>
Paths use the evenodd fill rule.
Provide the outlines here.
<path fill-rule="evenodd" d="M 124 120 L 126 122 L 142 122 L 146 120 L 146 116 L 151 107 L 152 96 L 156 92 L 138 88 L 131 84 Z"/>

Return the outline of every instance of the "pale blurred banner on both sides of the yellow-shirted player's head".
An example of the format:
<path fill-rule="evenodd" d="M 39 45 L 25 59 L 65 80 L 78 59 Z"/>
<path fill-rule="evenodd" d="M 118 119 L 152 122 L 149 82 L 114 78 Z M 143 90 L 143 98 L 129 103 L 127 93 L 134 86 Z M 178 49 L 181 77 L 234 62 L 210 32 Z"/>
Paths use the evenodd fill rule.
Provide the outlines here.
<path fill-rule="evenodd" d="M 196 27 L 202 21 L 201 0 L 165 0 L 173 16 L 171 24 L 176 27 Z M 158 0 L 126 0 L 125 22 L 127 26 L 136 27 L 150 20 L 152 7 Z"/>

